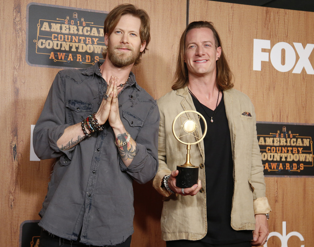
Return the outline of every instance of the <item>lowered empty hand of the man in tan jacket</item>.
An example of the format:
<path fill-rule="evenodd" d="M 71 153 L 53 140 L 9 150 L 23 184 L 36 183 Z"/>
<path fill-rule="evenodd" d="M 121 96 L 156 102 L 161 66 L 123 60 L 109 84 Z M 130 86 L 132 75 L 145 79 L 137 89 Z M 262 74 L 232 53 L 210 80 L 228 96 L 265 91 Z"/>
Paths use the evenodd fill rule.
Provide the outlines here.
<path fill-rule="evenodd" d="M 255 215 L 255 230 L 253 231 L 253 241 L 252 246 L 262 246 L 267 242 L 267 237 L 269 234 L 267 218 L 264 214 Z"/>

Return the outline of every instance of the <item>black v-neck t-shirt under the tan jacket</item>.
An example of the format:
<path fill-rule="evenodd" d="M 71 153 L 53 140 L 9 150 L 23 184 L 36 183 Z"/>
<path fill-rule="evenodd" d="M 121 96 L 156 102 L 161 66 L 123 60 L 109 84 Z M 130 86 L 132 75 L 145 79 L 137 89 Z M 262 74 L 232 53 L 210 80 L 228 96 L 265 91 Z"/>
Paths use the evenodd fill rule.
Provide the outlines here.
<path fill-rule="evenodd" d="M 230 225 L 234 184 L 233 160 L 223 93 L 215 113 L 191 96 L 196 110 L 207 122 L 204 146 L 208 232 L 201 241 L 212 245 L 251 241 L 252 231 L 236 231 Z M 204 131 L 204 123 L 200 122 Z"/>

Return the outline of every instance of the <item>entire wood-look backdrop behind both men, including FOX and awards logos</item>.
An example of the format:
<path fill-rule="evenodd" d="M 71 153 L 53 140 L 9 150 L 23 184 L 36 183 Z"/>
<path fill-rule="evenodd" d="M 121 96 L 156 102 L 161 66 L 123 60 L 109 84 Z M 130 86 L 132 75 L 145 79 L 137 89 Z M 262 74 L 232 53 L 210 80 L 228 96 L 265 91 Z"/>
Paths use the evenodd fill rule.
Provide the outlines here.
<path fill-rule="evenodd" d="M 103 59 L 105 16 L 125 2 L 151 17 L 152 41 L 133 72 L 156 99 L 171 90 L 187 13 L 214 23 L 235 88 L 256 108 L 272 206 L 267 246 L 314 246 L 314 13 L 207 0 L 1 1 L 1 245 L 38 246 L 53 160 L 36 157 L 32 129 L 58 70 Z M 165 247 L 161 196 L 151 183 L 134 190 L 132 246 Z"/>

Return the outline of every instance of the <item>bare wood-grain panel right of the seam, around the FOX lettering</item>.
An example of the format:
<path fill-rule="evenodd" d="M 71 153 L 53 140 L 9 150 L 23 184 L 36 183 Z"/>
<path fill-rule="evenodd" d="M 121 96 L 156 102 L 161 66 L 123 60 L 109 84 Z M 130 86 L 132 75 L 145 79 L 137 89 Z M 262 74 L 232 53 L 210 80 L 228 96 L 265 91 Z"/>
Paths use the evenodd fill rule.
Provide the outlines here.
<path fill-rule="evenodd" d="M 314 75 L 277 71 L 270 59 L 262 62 L 262 70 L 253 70 L 253 40 L 270 40 L 271 48 L 278 42 L 303 44 L 314 41 L 314 13 L 231 4 L 207 0 L 190 0 L 189 22 L 208 20 L 214 23 L 224 45 L 235 88 L 252 100 L 257 121 L 281 123 L 314 123 Z M 294 48 L 295 49 L 295 48 Z M 270 49 L 262 49 L 269 52 Z M 284 52 L 283 52 L 284 53 Z M 295 50 L 296 62 L 299 60 Z M 309 60 L 314 66 L 314 52 Z M 284 57 L 282 64 L 285 64 Z M 314 246 L 314 178 L 266 177 L 266 196 L 272 206 L 270 232 L 286 234 L 296 231 L 298 237 L 288 240 L 289 247 Z M 283 247 L 277 237 L 269 239 L 268 247 Z"/>

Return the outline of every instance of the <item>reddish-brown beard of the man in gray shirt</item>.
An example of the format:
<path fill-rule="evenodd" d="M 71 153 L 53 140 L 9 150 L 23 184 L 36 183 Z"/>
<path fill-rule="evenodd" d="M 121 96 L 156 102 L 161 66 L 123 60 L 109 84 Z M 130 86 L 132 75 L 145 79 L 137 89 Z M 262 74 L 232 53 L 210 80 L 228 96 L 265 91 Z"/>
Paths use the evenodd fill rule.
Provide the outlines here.
<path fill-rule="evenodd" d="M 117 50 L 120 48 L 127 48 L 131 52 L 129 54 L 126 54 L 124 52 Z M 115 66 L 117 68 L 123 68 L 125 66 L 128 66 L 128 65 L 135 63 L 136 59 L 140 55 L 140 47 L 137 50 L 134 50 L 133 47 L 131 47 L 131 46 L 122 45 L 122 44 L 112 47 L 110 40 L 109 40 L 107 52 L 108 52 L 108 58 L 111 61 L 111 63 L 113 64 L 113 66 Z"/>

